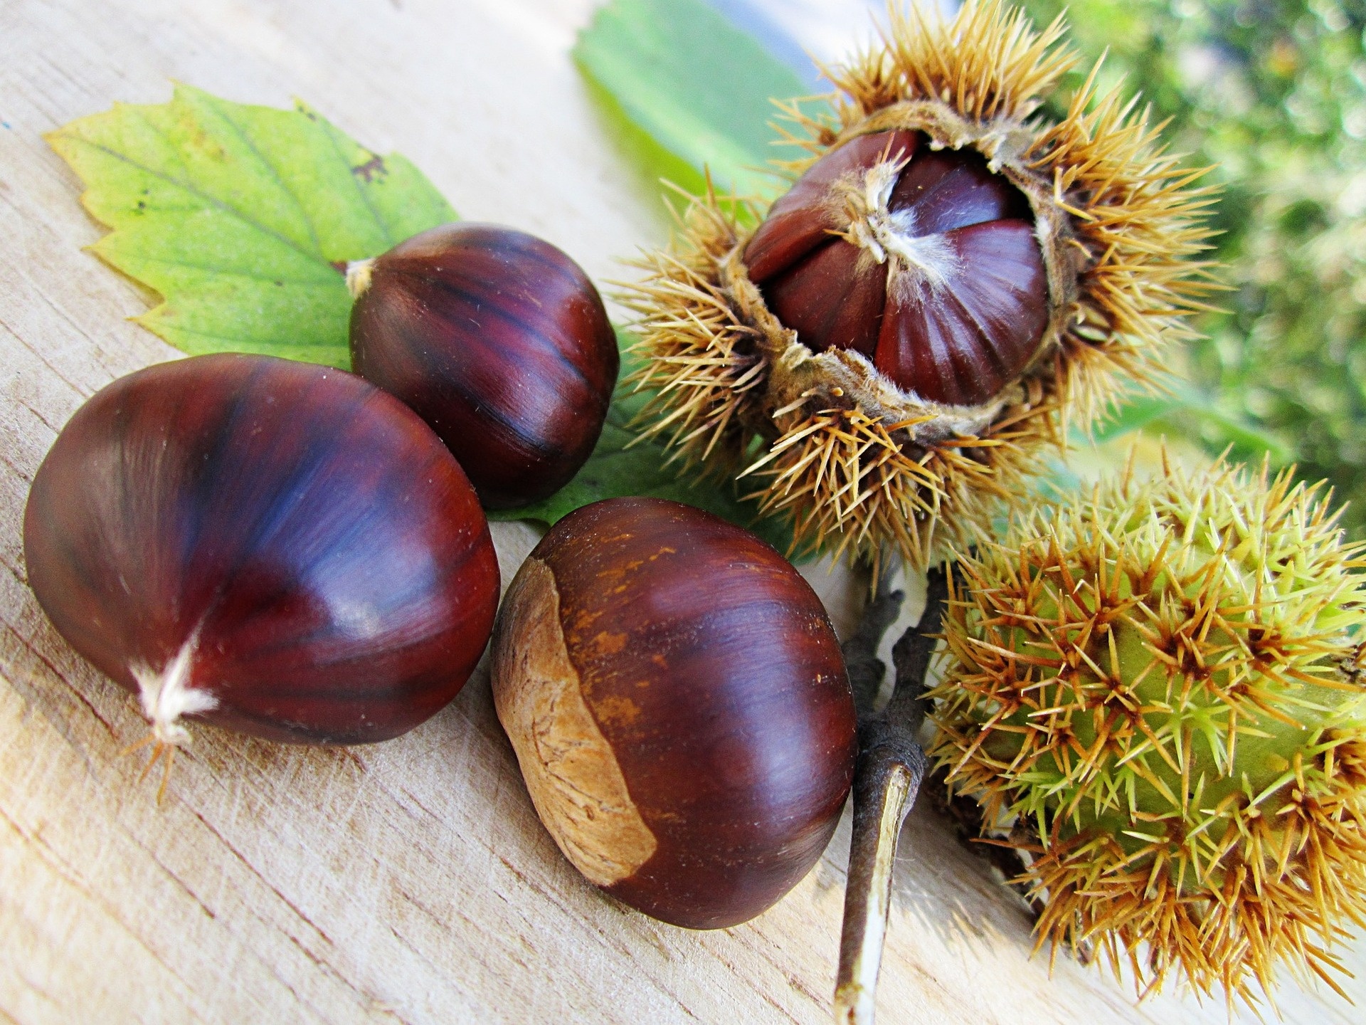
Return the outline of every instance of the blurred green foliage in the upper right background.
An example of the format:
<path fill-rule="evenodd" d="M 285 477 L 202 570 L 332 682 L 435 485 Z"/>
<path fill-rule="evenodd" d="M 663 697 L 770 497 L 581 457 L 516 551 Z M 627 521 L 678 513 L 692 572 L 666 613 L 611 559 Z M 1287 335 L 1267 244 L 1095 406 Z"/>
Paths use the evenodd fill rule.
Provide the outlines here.
<path fill-rule="evenodd" d="M 1059 0 L 1024 0 L 1040 26 Z M 1071 0 L 1081 85 L 1141 90 L 1173 152 L 1223 187 L 1213 256 L 1232 291 L 1203 316 L 1194 396 L 1147 430 L 1298 461 L 1366 537 L 1366 0 Z M 1064 96 L 1071 89 L 1063 90 Z"/>

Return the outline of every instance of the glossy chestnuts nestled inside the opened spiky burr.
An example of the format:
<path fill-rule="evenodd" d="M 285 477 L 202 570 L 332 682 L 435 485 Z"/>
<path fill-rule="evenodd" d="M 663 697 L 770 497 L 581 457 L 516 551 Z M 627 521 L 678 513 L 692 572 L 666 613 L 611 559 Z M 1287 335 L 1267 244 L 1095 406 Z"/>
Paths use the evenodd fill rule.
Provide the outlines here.
<path fill-rule="evenodd" d="M 915 131 L 862 135 L 818 160 L 744 262 L 806 347 L 856 350 L 933 402 L 990 400 L 1048 327 L 1029 200 L 975 150 L 936 150 Z"/>

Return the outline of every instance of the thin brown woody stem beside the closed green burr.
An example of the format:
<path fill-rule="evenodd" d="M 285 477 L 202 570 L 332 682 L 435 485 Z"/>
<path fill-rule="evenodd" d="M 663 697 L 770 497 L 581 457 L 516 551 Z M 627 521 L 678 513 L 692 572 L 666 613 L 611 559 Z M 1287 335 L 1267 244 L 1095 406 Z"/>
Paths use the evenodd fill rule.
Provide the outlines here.
<path fill-rule="evenodd" d="M 921 696 L 947 594 L 945 571 L 930 570 L 921 620 L 892 649 L 896 667 L 892 697 L 881 712 L 866 715 L 859 723 L 854 838 L 835 984 L 835 1021 L 840 1025 L 873 1024 L 877 972 L 892 906 L 896 842 L 925 776 L 925 752 L 917 739 L 925 718 Z"/>

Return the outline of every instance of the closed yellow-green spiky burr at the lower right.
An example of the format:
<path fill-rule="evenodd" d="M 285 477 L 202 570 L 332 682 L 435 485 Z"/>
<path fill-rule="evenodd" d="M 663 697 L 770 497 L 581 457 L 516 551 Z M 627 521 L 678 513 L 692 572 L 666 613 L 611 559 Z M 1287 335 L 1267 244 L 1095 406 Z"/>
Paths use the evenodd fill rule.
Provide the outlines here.
<path fill-rule="evenodd" d="M 1251 1003 L 1366 918 L 1362 545 L 1317 488 L 1130 474 L 960 559 L 930 756 L 1038 939 Z M 1336 985 L 1335 985 L 1336 988 Z"/>

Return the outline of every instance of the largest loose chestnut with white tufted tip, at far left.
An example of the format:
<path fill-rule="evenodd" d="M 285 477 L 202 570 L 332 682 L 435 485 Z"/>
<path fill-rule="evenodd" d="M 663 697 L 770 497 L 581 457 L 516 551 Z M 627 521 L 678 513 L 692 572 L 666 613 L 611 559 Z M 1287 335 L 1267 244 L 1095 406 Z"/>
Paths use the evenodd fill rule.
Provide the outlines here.
<path fill-rule="evenodd" d="M 276 741 L 395 737 L 464 685 L 499 566 L 473 488 L 403 403 L 255 355 L 150 366 L 61 430 L 23 522 L 53 625 L 138 694 Z"/>

